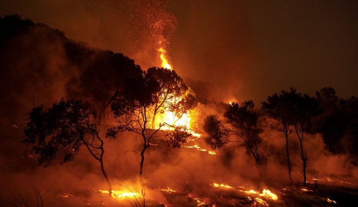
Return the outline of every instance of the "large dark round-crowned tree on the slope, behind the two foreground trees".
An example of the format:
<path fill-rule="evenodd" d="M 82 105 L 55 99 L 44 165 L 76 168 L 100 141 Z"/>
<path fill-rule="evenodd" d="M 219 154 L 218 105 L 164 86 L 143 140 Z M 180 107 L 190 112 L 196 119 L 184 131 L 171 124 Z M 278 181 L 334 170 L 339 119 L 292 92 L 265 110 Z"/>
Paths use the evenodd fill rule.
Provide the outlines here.
<path fill-rule="evenodd" d="M 96 51 L 89 58 L 79 78 L 79 93 L 96 104 L 100 125 L 115 93 L 122 91 L 128 80 L 141 76 L 142 70 L 134 60 L 109 50 Z"/>

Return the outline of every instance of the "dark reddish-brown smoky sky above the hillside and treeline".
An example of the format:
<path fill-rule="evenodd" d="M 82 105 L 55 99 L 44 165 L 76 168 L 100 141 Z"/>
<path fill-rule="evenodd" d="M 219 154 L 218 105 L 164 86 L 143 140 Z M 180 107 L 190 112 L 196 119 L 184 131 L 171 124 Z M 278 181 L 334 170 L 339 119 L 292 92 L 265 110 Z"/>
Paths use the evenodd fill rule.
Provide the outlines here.
<path fill-rule="evenodd" d="M 311 95 L 332 86 L 343 98 L 358 96 L 357 1 L 142 2 L 3 0 L 0 14 L 45 22 L 147 67 L 143 54 L 153 49 L 140 15 L 161 10 L 176 18 L 168 36 L 174 69 L 211 82 L 224 101 L 259 102 L 289 86 Z"/>

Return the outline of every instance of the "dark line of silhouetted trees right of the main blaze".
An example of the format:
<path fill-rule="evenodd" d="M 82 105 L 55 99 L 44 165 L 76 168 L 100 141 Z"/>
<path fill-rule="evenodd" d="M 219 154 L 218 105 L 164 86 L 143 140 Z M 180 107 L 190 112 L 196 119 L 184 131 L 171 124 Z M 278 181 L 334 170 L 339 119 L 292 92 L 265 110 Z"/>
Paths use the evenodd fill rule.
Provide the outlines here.
<path fill-rule="evenodd" d="M 331 87 L 317 91 L 316 96 L 299 93 L 295 88 L 281 90 L 267 97 L 261 108 L 255 107 L 253 101 L 242 103 L 221 103 L 222 114 L 206 116 L 203 129 L 212 149 L 226 146 L 230 142 L 245 147 L 258 168 L 265 166 L 266 155 L 270 150 L 262 144 L 260 133 L 263 129 L 258 124 L 260 117 L 273 118 L 279 126 L 285 140 L 285 154 L 288 175 L 293 181 L 292 162 L 290 161 L 289 137 L 296 137 L 299 142 L 299 155 L 303 181 L 306 183 L 306 168 L 310 159 L 304 148 L 306 134 L 321 133 L 326 148 L 333 154 L 346 154 L 354 165 L 358 165 L 358 98 L 342 99 Z M 263 119 L 266 120 L 266 119 Z M 270 129 L 272 130 L 272 128 Z M 236 137 L 232 140 L 230 137 Z"/>

